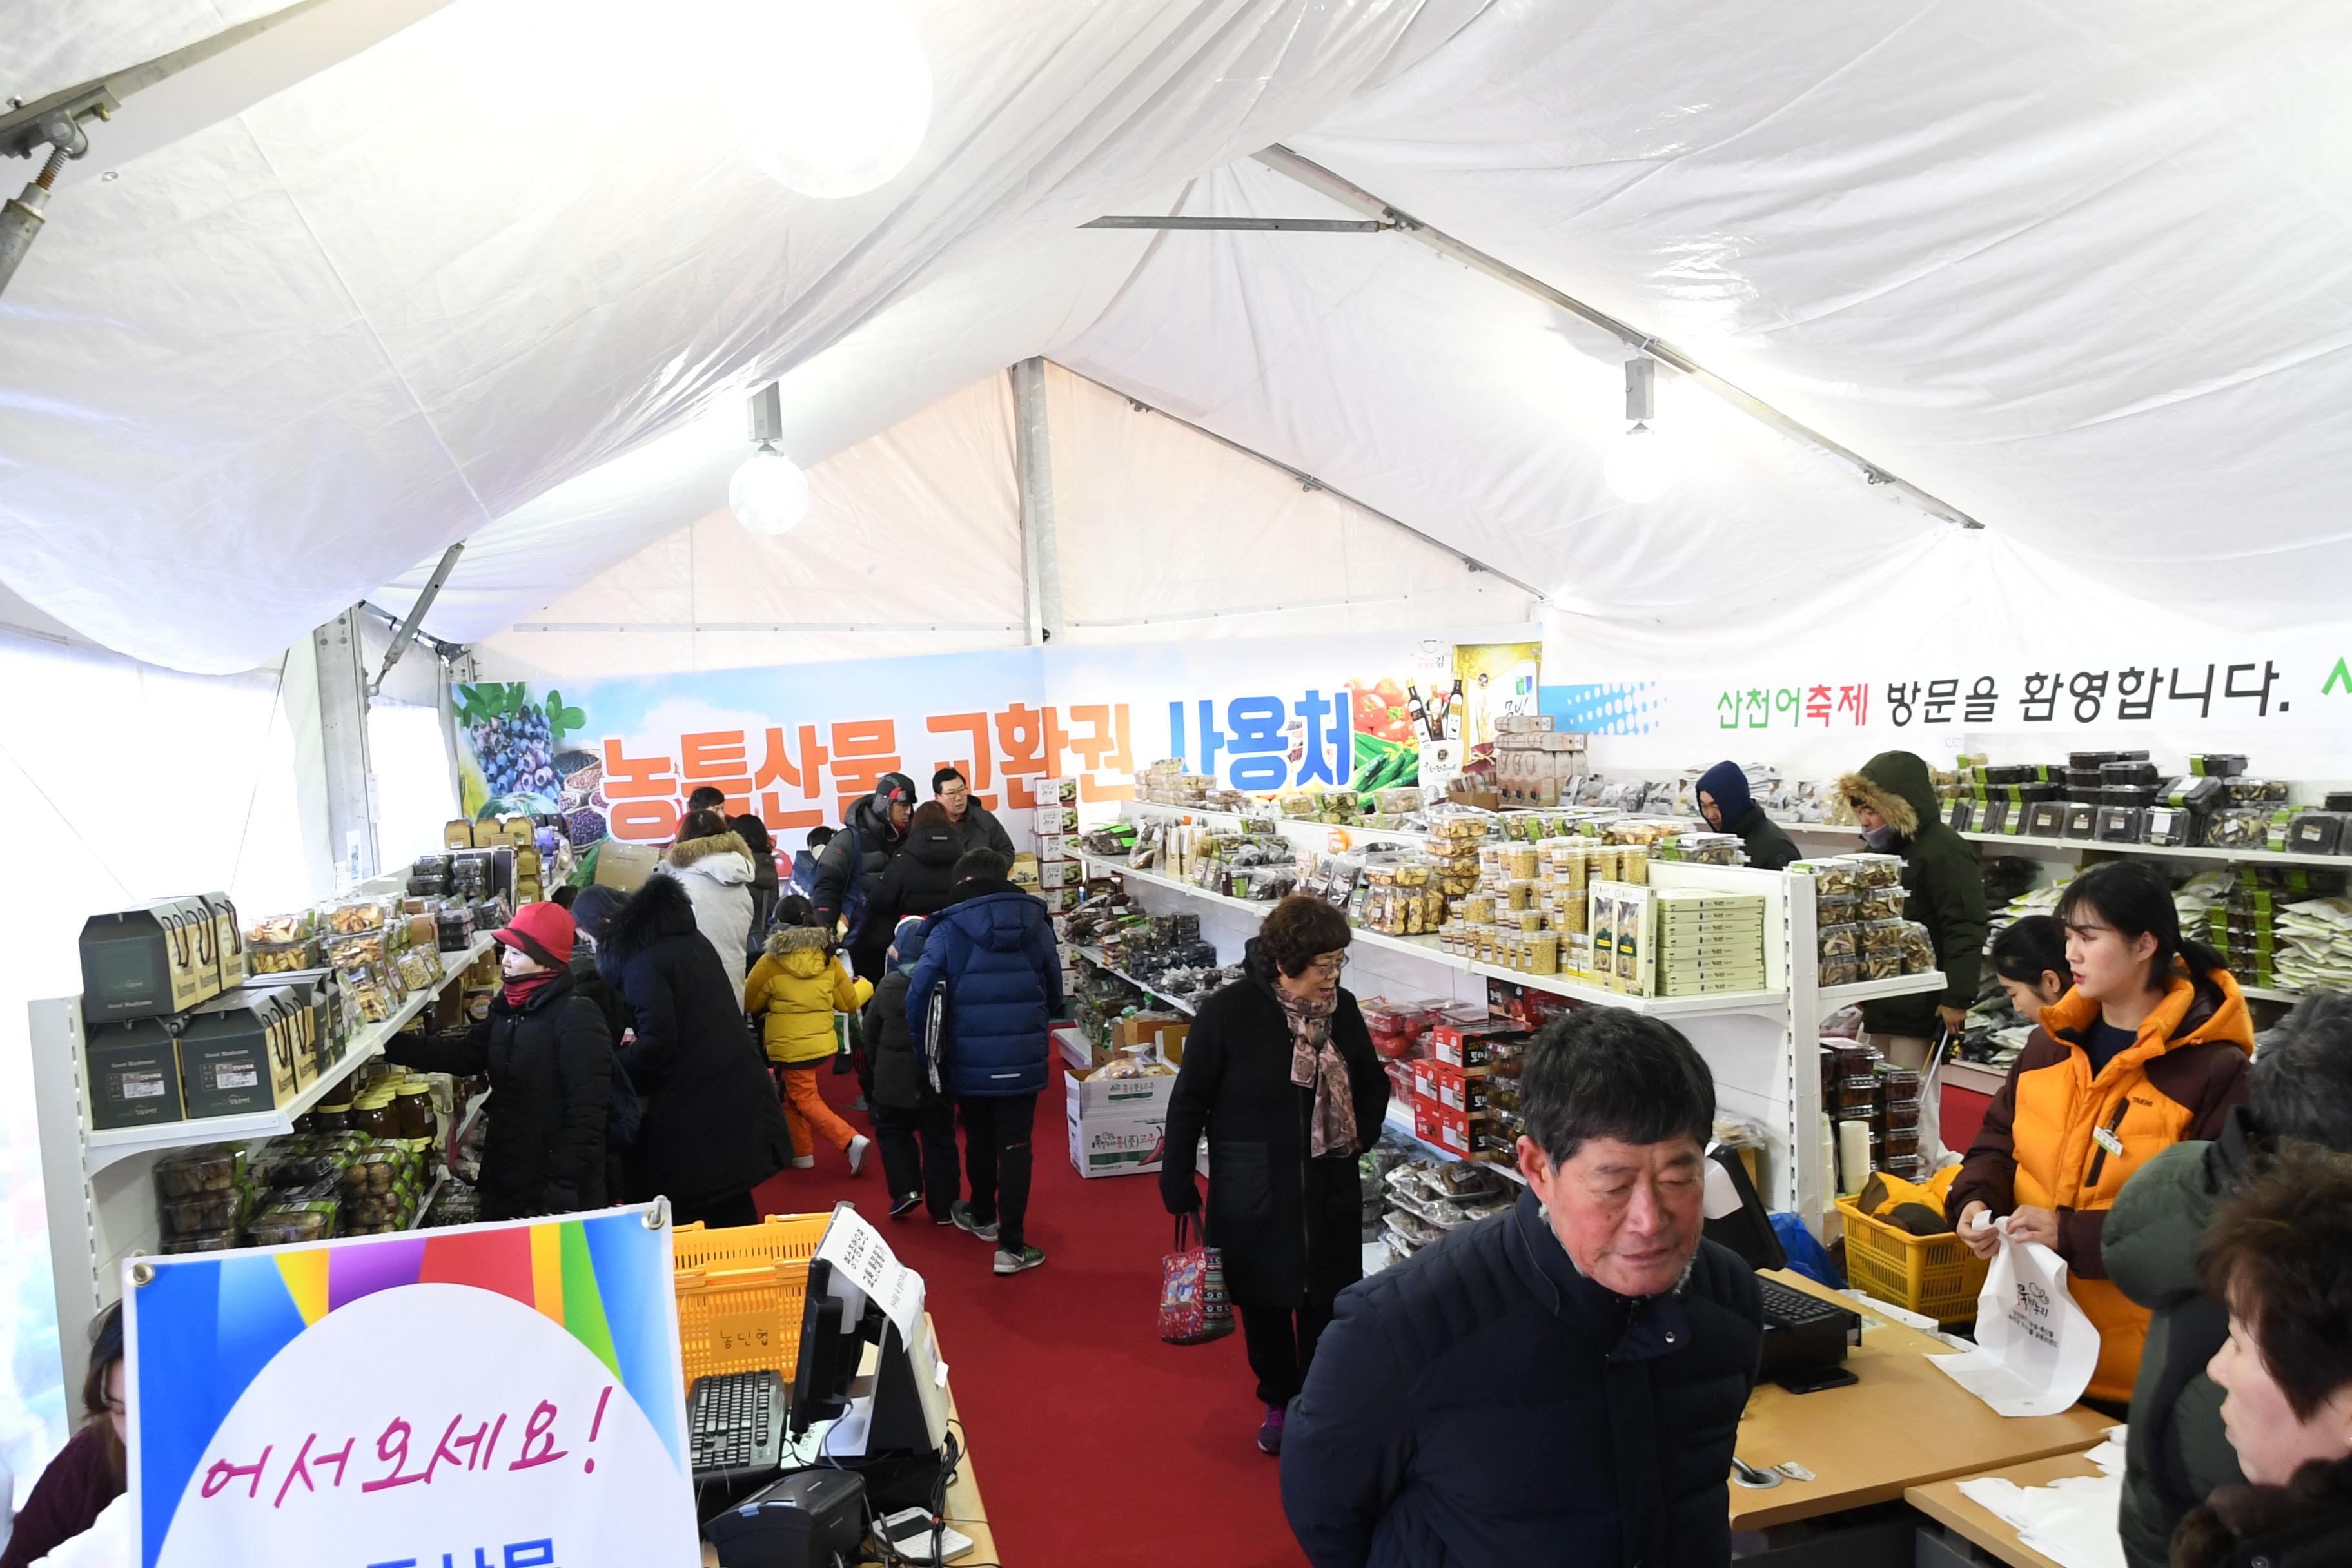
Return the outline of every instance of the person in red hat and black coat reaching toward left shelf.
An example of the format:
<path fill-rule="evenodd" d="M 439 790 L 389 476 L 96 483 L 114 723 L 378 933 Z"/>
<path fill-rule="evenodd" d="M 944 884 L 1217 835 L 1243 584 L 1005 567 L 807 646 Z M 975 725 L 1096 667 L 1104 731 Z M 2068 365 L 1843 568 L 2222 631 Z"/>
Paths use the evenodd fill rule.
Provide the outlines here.
<path fill-rule="evenodd" d="M 506 987 L 466 1039 L 395 1037 L 402 1067 L 489 1074 L 482 1105 L 482 1218 L 602 1208 L 612 1114 L 612 1030 L 572 978 L 572 917 L 529 903 L 496 933 Z"/>

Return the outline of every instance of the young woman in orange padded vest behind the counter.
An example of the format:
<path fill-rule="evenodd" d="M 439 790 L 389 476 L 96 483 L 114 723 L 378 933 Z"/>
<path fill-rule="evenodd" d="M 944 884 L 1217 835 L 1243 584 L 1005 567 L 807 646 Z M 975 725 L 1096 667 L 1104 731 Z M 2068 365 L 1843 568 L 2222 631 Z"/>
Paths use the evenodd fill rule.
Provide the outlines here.
<path fill-rule="evenodd" d="M 2084 870 L 2058 896 L 2072 987 L 1985 1112 L 1945 1213 L 1980 1258 L 2009 1215 L 2011 1241 L 2039 1241 L 2098 1324 L 2089 1396 L 2131 1401 L 2147 1309 L 2107 1279 L 2098 1241 L 2131 1173 L 2187 1138 L 2213 1138 L 2246 1100 L 2253 1020 L 2220 954 L 2183 940 L 2173 891 L 2145 860 Z"/>

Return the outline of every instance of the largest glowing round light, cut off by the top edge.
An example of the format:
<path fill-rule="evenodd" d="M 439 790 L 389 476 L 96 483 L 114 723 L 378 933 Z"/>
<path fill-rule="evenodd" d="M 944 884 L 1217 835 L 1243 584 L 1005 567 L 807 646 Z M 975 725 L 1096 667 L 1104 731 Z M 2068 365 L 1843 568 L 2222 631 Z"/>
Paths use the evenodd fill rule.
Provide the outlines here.
<path fill-rule="evenodd" d="M 729 120 L 769 179 L 816 197 L 889 183 L 931 125 L 931 63 L 887 0 L 746 0 Z"/>

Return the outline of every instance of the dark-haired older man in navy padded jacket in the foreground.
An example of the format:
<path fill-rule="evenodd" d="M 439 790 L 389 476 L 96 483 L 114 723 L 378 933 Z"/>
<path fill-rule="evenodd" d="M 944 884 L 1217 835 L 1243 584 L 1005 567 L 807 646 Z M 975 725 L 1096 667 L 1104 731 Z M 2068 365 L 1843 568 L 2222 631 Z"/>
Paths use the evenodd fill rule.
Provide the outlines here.
<path fill-rule="evenodd" d="M 1338 1298 L 1282 1443 L 1315 1568 L 1731 1561 L 1764 1331 L 1755 1274 L 1700 1234 L 1708 1065 L 1578 1009 L 1519 1100 L 1519 1204 Z"/>

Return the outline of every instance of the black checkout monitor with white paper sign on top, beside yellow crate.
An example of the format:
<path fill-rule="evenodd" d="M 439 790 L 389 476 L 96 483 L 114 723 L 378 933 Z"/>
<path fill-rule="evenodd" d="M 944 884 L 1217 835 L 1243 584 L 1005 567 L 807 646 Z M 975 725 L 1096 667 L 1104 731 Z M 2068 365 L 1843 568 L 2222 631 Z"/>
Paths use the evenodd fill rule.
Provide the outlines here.
<path fill-rule="evenodd" d="M 863 1229 L 866 1246 L 889 1251 L 849 1204 L 835 1208 L 835 1225 Z M 929 1319 L 915 1319 L 915 1340 L 908 1342 L 898 1324 L 823 1251 L 818 1244 L 821 1255 L 809 1260 L 800 1312 L 793 1436 L 833 1422 L 826 1436 L 826 1458 L 833 1460 L 938 1453 L 948 1443 L 948 1382 Z M 891 1267 L 898 1267 L 896 1258 Z"/>

